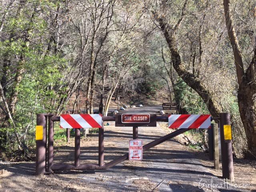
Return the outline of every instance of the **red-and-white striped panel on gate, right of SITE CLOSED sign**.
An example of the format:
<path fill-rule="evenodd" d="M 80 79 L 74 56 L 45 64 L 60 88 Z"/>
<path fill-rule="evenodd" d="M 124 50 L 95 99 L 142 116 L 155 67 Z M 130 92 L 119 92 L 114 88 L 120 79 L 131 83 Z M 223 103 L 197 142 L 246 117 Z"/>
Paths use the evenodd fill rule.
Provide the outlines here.
<path fill-rule="evenodd" d="M 170 115 L 168 127 L 171 129 L 207 129 L 211 126 L 210 115 Z"/>

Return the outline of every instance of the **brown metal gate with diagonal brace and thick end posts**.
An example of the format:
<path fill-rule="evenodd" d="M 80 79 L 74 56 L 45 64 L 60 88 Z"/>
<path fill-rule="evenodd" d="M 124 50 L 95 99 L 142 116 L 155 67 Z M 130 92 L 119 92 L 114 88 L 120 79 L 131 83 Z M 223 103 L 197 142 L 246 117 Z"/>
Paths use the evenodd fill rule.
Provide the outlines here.
<path fill-rule="evenodd" d="M 36 124 L 40 126 L 42 138 L 36 140 L 36 175 L 51 174 L 55 170 L 96 170 L 108 169 L 120 162 L 127 160 L 129 154 L 124 154 L 115 160 L 104 163 L 104 121 L 116 121 L 117 116 L 103 116 L 102 128 L 98 132 L 98 164 L 80 164 L 80 129 L 75 129 L 75 152 L 74 164 L 54 164 L 54 122 L 60 122 L 60 116 L 53 116 L 52 114 L 37 114 Z M 224 125 L 230 124 L 230 115 L 227 113 L 220 114 L 220 135 L 222 148 L 222 174 L 224 178 L 234 178 L 233 160 L 232 160 L 232 143 L 224 139 Z M 168 122 L 168 116 L 156 116 L 157 122 Z M 48 126 L 47 126 L 48 125 Z M 47 129 L 48 128 L 48 129 Z M 161 144 L 175 136 L 178 136 L 190 128 L 182 128 L 158 138 L 143 146 L 143 151 Z M 213 136 L 211 135 L 213 140 Z M 138 127 L 133 126 L 133 139 L 138 138 Z M 47 142 L 48 141 L 48 142 Z M 48 145 L 47 145 L 48 143 Z M 211 144 L 212 146 L 212 144 Z M 210 149 L 213 153 L 213 147 Z"/>

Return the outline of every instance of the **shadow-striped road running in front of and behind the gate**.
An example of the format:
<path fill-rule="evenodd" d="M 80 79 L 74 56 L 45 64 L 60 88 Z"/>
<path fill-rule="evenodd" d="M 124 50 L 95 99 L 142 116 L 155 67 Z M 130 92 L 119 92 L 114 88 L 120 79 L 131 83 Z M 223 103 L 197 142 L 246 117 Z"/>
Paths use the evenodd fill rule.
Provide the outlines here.
<path fill-rule="evenodd" d="M 140 127 L 139 138 L 144 144 L 166 135 L 166 130 L 158 127 Z M 109 162 L 128 152 L 132 128 L 115 127 L 114 122 L 105 126 L 105 162 Z M 57 142 L 54 163 L 74 161 L 74 138 L 69 143 Z M 98 134 L 81 138 L 81 163 L 98 162 Z M 206 154 L 204 154 L 206 155 Z M 255 186 L 235 187 L 224 182 L 208 166 L 200 161 L 197 152 L 169 140 L 144 152 L 142 161 L 126 160 L 109 170 L 59 171 L 51 175 L 34 176 L 34 162 L 0 164 L 0 191 L 251 191 Z M 250 174 L 250 173 L 248 173 Z M 246 184 L 237 181 L 236 184 Z"/>

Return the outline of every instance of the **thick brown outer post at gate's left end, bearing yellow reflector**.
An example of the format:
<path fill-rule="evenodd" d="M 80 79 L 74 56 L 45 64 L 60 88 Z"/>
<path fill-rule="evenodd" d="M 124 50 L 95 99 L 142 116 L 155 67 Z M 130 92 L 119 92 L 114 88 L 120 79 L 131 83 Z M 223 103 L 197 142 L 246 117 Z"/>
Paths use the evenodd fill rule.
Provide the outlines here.
<path fill-rule="evenodd" d="M 36 125 L 43 126 L 43 139 L 36 140 L 36 175 L 44 174 L 46 168 L 46 116 L 36 114 Z"/>

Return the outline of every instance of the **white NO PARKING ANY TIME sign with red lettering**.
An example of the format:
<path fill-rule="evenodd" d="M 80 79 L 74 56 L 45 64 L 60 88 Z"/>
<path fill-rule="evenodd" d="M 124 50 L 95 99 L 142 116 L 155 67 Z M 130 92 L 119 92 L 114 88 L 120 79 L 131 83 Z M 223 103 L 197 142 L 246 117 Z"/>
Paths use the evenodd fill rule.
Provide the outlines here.
<path fill-rule="evenodd" d="M 143 156 L 143 142 L 142 140 L 129 141 L 129 160 L 141 161 Z"/>

